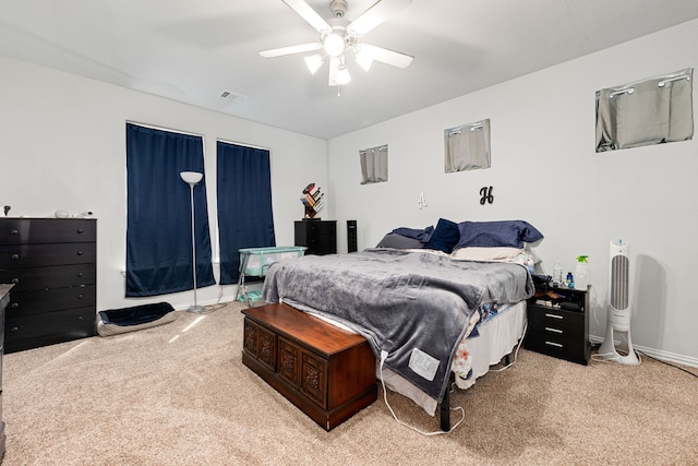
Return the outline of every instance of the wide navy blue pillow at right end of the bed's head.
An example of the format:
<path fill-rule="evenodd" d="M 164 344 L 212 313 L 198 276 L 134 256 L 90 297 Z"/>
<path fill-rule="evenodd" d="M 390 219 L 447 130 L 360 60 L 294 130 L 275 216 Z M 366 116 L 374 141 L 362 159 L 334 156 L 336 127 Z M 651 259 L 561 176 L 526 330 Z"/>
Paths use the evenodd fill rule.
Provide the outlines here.
<path fill-rule="evenodd" d="M 524 242 L 535 242 L 543 235 L 524 220 L 461 222 L 458 224 L 460 239 L 455 249 L 480 248 L 524 248 Z"/>

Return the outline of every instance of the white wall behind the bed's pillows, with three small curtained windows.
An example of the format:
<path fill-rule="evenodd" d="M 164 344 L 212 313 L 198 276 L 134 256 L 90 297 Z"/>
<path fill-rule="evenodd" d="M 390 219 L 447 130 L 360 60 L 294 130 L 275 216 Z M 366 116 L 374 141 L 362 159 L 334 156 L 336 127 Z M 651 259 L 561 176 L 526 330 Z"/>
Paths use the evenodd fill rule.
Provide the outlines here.
<path fill-rule="evenodd" d="M 419 57 L 417 58 L 419 59 Z M 698 21 L 405 115 L 329 141 L 332 201 L 340 226 L 358 220 L 359 248 L 395 227 L 521 218 L 545 239 L 552 272 L 590 255 L 591 333 L 605 331 L 609 243 L 630 243 L 633 342 L 698 366 L 698 135 L 597 154 L 595 91 L 698 65 Z M 694 108 L 696 108 L 694 104 Z M 490 118 L 492 167 L 445 175 L 443 130 Z M 389 181 L 360 186 L 359 150 L 389 145 Z M 348 176 L 353 174 L 353 176 Z M 479 191 L 493 186 L 494 204 Z M 418 208 L 420 192 L 429 206 Z M 346 228 L 339 228 L 346 249 Z"/>

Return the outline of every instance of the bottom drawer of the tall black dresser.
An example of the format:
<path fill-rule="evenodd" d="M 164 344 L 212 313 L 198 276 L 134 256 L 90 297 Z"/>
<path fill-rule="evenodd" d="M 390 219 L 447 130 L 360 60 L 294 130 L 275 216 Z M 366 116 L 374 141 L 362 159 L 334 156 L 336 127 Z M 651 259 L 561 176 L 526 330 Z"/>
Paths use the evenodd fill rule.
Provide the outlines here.
<path fill-rule="evenodd" d="M 95 320 L 94 307 L 21 316 L 8 312 L 5 353 L 94 336 Z"/>

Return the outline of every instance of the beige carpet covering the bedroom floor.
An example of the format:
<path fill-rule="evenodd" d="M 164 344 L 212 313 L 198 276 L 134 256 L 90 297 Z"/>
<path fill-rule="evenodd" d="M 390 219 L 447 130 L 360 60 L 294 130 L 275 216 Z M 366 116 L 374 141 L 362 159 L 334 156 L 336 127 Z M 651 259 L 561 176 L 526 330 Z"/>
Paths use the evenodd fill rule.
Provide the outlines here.
<path fill-rule="evenodd" d="M 648 358 L 583 367 L 522 349 L 453 395 L 467 419 L 448 435 L 400 427 L 382 392 L 325 432 L 242 366 L 240 309 L 7 355 L 3 465 L 698 464 L 698 380 Z"/>

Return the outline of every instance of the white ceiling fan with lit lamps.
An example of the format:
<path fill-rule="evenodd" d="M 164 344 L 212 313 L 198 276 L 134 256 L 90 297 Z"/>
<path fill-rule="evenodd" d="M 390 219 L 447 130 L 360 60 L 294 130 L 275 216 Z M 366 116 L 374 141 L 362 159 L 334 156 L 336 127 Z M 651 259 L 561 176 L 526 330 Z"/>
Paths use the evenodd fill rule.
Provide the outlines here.
<path fill-rule="evenodd" d="M 282 1 L 320 33 L 320 41 L 263 50 L 260 55 L 264 58 L 315 52 L 305 57 L 305 64 L 311 73 L 315 74 L 328 59 L 330 86 L 344 85 L 351 81 L 347 70 L 347 56 L 353 56 L 357 63 L 366 71 L 374 60 L 393 67 L 407 68 L 414 59 L 399 51 L 359 43 L 361 36 L 393 14 L 409 7 L 412 0 L 378 0 L 352 22 L 345 19 L 348 7 L 346 0 L 332 0 L 329 10 L 333 19 L 327 21 L 304 0 Z"/>

